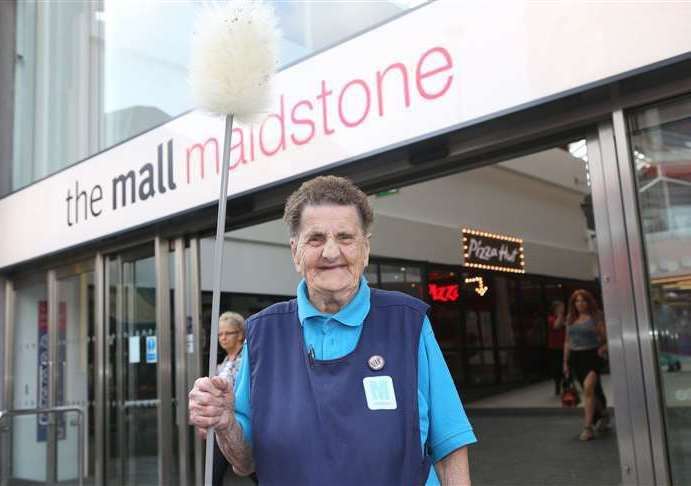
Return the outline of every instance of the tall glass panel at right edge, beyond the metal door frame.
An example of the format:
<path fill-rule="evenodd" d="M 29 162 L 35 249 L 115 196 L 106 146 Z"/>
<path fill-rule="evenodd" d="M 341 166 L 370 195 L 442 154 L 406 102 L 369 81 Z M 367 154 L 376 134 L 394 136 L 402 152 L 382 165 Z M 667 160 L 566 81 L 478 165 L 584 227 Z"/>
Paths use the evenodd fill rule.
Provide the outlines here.
<path fill-rule="evenodd" d="M 691 483 L 691 97 L 629 117 L 675 485 Z"/>

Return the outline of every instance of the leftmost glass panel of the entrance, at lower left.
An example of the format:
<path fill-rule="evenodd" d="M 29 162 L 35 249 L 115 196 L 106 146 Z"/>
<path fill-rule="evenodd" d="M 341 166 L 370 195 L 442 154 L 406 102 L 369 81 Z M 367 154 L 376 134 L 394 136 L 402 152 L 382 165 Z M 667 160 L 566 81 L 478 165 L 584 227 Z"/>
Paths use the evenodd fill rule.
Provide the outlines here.
<path fill-rule="evenodd" d="M 48 407 L 48 294 L 44 279 L 15 288 L 13 370 L 12 407 Z M 10 477 L 46 481 L 48 416 L 14 417 L 10 432 Z"/>

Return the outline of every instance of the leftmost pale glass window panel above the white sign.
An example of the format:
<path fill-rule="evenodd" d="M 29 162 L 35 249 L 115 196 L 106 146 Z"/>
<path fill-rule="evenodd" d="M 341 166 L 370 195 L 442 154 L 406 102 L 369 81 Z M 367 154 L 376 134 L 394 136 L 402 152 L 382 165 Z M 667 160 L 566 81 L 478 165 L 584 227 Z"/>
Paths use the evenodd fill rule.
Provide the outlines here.
<path fill-rule="evenodd" d="M 90 154 L 98 2 L 17 2 L 13 189 Z M 92 37 L 93 36 L 93 37 Z"/>

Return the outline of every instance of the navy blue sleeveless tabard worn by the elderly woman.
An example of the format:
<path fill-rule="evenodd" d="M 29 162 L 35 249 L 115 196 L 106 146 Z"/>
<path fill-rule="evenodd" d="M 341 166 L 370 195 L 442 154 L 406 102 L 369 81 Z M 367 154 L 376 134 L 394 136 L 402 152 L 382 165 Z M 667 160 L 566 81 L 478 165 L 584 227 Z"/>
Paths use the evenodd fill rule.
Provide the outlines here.
<path fill-rule="evenodd" d="M 371 289 L 355 349 L 316 360 L 305 348 L 294 300 L 248 320 L 254 460 L 262 486 L 424 484 L 418 345 L 427 305 Z M 382 356 L 384 367 L 368 360 Z M 363 378 L 390 376 L 397 408 L 370 410 Z"/>

